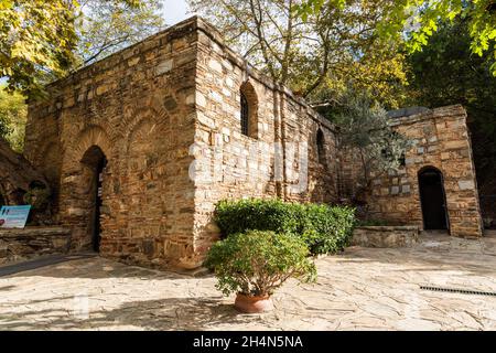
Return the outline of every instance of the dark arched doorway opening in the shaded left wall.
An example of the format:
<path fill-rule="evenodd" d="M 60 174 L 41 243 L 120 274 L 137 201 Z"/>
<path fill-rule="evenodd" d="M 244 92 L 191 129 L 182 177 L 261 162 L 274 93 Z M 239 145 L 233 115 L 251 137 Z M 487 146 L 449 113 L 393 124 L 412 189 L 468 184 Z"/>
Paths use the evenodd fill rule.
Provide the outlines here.
<path fill-rule="evenodd" d="M 88 236 L 91 238 L 93 250 L 99 252 L 101 240 L 100 210 L 103 205 L 103 182 L 104 170 L 107 165 L 107 158 L 98 146 L 91 146 L 84 154 L 82 161 L 89 174 L 90 182 L 88 189 L 89 226 Z"/>

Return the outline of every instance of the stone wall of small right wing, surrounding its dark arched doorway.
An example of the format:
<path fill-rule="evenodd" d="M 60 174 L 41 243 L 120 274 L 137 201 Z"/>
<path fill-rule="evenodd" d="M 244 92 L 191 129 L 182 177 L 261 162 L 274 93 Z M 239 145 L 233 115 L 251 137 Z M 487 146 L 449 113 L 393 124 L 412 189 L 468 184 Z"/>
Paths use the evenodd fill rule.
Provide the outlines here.
<path fill-rule="evenodd" d="M 436 108 L 429 113 L 396 118 L 393 127 L 408 137 L 413 147 L 406 154 L 406 165 L 398 172 L 380 175 L 373 181 L 368 205 L 371 217 L 423 228 L 418 173 L 434 167 L 444 179 L 451 234 L 481 236 L 482 221 L 466 127 L 462 106 Z M 353 190 L 358 163 L 348 153 L 343 158 L 345 185 Z"/>

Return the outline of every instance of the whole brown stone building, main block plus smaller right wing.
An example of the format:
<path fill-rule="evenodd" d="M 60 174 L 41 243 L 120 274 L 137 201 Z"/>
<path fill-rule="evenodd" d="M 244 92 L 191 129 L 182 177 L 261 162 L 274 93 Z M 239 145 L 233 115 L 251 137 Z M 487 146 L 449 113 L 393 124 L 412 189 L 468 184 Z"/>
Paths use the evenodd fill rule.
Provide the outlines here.
<path fill-rule="evenodd" d="M 54 190 L 73 249 L 195 268 L 218 236 L 217 201 L 335 203 L 353 184 L 332 124 L 196 17 L 47 89 L 48 100 L 30 105 L 25 154 Z M 397 124 L 413 127 L 418 146 L 406 174 L 377 182 L 377 213 L 423 227 L 416 178 L 433 171 L 445 184 L 446 227 L 481 235 L 463 109 Z"/>

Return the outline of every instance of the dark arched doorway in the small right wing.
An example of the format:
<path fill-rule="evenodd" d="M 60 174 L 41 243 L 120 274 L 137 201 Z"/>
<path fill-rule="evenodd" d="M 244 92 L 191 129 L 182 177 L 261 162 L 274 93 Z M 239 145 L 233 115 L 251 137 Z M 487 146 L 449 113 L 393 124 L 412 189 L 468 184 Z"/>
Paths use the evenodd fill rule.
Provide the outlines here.
<path fill-rule="evenodd" d="M 446 195 L 443 174 L 433 167 L 419 172 L 420 202 L 425 231 L 449 229 Z"/>

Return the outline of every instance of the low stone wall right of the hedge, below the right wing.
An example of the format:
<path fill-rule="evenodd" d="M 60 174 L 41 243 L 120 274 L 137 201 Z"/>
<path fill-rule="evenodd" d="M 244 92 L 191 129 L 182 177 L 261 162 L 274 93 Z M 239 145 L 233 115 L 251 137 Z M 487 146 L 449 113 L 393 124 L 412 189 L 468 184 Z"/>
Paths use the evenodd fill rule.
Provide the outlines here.
<path fill-rule="evenodd" d="M 419 240 L 418 226 L 357 227 L 352 245 L 363 247 L 410 247 Z"/>

